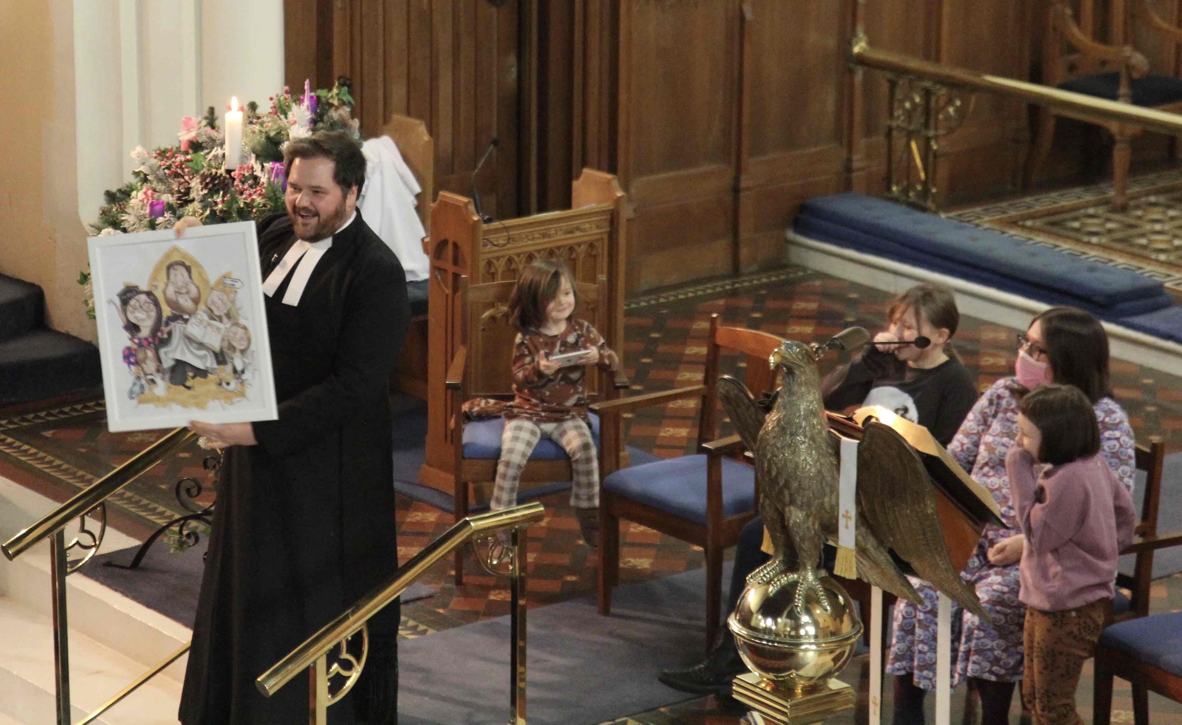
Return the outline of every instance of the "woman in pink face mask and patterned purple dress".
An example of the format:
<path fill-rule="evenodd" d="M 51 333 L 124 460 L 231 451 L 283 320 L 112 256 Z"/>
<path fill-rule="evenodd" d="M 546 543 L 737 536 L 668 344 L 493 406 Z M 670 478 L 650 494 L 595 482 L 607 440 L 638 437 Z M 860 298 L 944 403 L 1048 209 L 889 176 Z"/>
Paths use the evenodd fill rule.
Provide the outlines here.
<path fill-rule="evenodd" d="M 967 679 L 981 698 L 981 725 L 1007 721 L 1014 684 L 1022 678 L 1022 621 L 1018 562 L 1025 537 L 1017 513 L 1006 455 L 1019 434 L 1018 406 L 1047 383 L 1079 388 L 1091 403 L 1099 431 L 1099 460 L 1132 491 L 1135 441 L 1129 416 L 1109 389 L 1109 343 L 1099 321 L 1072 308 L 1052 308 L 1018 336 L 1015 376 L 987 389 L 948 445 L 948 452 L 989 490 L 1005 527 L 987 526 L 961 578 L 976 589 L 992 622 L 953 604 L 953 685 Z M 895 678 L 895 723 L 923 721 L 923 692 L 936 686 L 934 658 L 916 642 L 936 639 L 936 593 L 913 578 L 924 604 L 898 602 L 886 672 Z M 957 646 L 959 645 L 959 646 Z"/>

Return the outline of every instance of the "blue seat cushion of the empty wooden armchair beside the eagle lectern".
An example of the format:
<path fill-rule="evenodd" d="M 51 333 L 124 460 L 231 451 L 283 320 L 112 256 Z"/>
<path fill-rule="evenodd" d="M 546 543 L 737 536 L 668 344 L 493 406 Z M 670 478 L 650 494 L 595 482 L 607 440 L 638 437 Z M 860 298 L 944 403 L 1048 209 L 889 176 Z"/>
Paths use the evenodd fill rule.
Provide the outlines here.
<path fill-rule="evenodd" d="M 611 491 L 654 509 L 706 525 L 706 455 L 682 455 L 622 468 L 603 479 Z M 755 470 L 722 459 L 722 516 L 755 509 Z"/>

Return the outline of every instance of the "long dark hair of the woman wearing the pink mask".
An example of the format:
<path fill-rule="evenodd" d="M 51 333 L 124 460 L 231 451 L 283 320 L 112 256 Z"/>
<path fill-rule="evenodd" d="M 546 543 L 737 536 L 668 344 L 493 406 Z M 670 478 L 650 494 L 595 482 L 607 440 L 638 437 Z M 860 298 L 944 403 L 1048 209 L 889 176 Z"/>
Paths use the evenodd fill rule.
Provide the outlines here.
<path fill-rule="evenodd" d="M 1031 321 L 1043 323 L 1043 341 L 1054 382 L 1074 386 L 1095 404 L 1111 396 L 1108 334 L 1091 313 L 1074 308 L 1051 308 Z"/>

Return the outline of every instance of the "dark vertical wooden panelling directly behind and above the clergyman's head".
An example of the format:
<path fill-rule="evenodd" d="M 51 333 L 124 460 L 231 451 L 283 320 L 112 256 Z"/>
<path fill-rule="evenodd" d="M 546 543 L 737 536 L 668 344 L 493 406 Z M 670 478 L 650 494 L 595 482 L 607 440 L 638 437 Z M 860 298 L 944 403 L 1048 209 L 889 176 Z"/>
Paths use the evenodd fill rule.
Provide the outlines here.
<path fill-rule="evenodd" d="M 505 218 L 519 213 L 519 200 L 524 200 L 518 180 L 522 149 L 519 114 L 530 112 L 528 99 L 519 98 L 519 83 L 530 82 L 531 72 L 530 64 L 519 59 L 522 51 L 532 52 L 532 46 L 521 45 L 518 2 L 285 2 L 288 17 L 297 19 L 286 31 L 288 78 L 307 72 L 313 62 L 330 67 L 327 73 L 319 72 L 318 85 L 348 76 L 357 99 L 353 112 L 366 137 L 381 132 L 395 114 L 423 119 L 435 138 L 440 189 L 470 195 L 475 164 L 496 136 L 498 149 L 476 179 L 482 212 Z M 537 2 L 526 0 L 522 5 L 528 13 Z M 324 62 L 294 40 L 311 27 L 313 9 L 317 37 L 324 38 L 316 53 Z"/>

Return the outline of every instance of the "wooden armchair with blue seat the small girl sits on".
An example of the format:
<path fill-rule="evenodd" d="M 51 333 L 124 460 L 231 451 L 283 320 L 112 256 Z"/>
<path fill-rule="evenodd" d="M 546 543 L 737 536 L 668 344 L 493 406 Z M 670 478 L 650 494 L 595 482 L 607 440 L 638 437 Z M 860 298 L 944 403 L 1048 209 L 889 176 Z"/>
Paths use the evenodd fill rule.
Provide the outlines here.
<path fill-rule="evenodd" d="M 462 426 L 461 435 L 453 435 L 453 453 L 455 455 L 455 520 L 468 516 L 468 504 L 473 487 L 483 486 L 492 490 L 496 480 L 496 461 L 501 455 L 501 433 L 505 420 L 463 420 L 465 401 L 473 397 L 491 397 L 513 400 L 512 375 L 509 364 L 513 358 L 513 341 L 517 326 L 509 319 L 508 303 L 513 296 L 515 280 L 492 281 L 469 285 L 468 277 L 460 278 L 460 293 L 456 296 L 456 318 L 466 325 L 463 339 L 467 345 L 459 348 L 455 358 L 448 368 L 447 389 L 452 391 L 452 420 L 454 426 Z M 576 283 L 579 297 L 578 316 L 590 322 L 596 330 L 608 329 L 608 316 L 613 313 L 608 297 L 606 279 L 600 277 L 598 284 Z M 609 339 L 613 349 L 622 347 L 623 341 Z M 483 375 L 481 380 L 492 381 L 492 389 L 474 389 L 474 365 L 500 365 L 504 375 Z M 600 376 L 599 390 L 603 397 L 613 400 L 619 390 L 628 388 L 628 378 L 623 371 L 608 373 L 596 368 Z M 599 442 L 599 421 L 591 415 L 591 433 Z M 538 496 L 569 487 L 573 479 L 571 460 L 561 446 L 550 439 L 538 441 L 530 455 L 530 462 L 521 472 L 521 493 Z M 533 491 L 528 491 L 533 484 Z M 551 484 L 538 488 L 538 484 Z M 455 583 L 463 583 L 463 550 L 455 555 Z"/>

